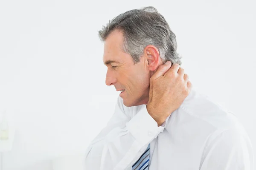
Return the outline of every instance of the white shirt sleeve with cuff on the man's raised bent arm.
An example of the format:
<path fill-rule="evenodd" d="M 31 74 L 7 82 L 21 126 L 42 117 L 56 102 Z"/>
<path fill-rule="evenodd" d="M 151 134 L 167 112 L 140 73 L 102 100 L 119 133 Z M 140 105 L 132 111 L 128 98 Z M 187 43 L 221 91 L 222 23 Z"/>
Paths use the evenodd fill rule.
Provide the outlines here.
<path fill-rule="evenodd" d="M 163 131 L 148 114 L 146 105 L 131 118 L 118 97 L 107 126 L 90 143 L 85 153 L 86 170 L 125 170 L 143 154 L 148 144 Z"/>

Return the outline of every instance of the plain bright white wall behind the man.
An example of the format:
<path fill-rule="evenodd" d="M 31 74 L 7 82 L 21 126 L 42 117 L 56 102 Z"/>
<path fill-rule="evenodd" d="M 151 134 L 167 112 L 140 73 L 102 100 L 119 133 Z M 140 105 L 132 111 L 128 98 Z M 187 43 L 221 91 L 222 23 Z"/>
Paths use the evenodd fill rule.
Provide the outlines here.
<path fill-rule="evenodd" d="M 255 5 L 253 0 L 0 1 L 0 111 L 6 108 L 16 126 L 3 169 L 84 153 L 118 96 L 105 85 L 97 30 L 144 6 L 163 14 L 194 88 L 239 117 L 256 153 Z"/>

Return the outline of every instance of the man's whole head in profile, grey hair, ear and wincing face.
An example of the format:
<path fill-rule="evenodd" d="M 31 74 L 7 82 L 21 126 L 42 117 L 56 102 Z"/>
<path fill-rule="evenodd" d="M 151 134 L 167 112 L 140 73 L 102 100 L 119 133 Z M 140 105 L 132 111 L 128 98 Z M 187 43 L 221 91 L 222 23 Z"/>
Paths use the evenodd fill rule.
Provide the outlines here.
<path fill-rule="evenodd" d="M 125 90 L 120 96 L 127 107 L 148 103 L 150 77 L 159 65 L 167 60 L 181 65 L 175 34 L 152 6 L 118 15 L 99 37 L 105 42 L 103 62 L 120 62 L 107 65 L 106 85 Z"/>

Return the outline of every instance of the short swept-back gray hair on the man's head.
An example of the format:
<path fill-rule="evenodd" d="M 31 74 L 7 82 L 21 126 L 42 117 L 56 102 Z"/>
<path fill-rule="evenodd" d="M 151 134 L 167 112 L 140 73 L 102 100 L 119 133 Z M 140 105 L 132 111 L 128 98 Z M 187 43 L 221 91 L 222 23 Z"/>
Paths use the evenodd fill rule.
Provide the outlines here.
<path fill-rule="evenodd" d="M 99 31 L 100 40 L 105 41 L 114 30 L 123 33 L 122 50 L 131 55 L 134 64 L 140 62 L 147 45 L 154 45 L 163 63 L 171 61 L 181 65 L 176 36 L 156 8 L 148 6 L 119 14 Z"/>

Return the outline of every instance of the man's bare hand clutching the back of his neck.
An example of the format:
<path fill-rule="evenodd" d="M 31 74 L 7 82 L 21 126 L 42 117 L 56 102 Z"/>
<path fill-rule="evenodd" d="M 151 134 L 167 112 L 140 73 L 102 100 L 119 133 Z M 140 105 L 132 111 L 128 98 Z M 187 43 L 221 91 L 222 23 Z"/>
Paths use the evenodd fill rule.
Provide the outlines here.
<path fill-rule="evenodd" d="M 178 64 L 172 65 L 167 61 L 160 65 L 149 81 L 148 113 L 157 122 L 158 126 L 180 107 L 189 95 L 192 84 L 189 76 Z"/>

